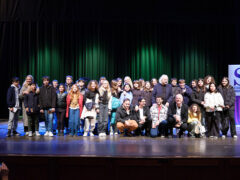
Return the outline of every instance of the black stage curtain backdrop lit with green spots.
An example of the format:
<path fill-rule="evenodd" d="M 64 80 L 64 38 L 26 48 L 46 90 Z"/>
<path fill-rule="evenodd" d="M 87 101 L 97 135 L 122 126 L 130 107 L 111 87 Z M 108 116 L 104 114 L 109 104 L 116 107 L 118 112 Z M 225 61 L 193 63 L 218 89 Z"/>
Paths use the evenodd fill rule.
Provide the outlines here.
<path fill-rule="evenodd" d="M 0 116 L 12 76 L 219 80 L 239 63 L 238 19 L 237 0 L 0 0 Z"/>

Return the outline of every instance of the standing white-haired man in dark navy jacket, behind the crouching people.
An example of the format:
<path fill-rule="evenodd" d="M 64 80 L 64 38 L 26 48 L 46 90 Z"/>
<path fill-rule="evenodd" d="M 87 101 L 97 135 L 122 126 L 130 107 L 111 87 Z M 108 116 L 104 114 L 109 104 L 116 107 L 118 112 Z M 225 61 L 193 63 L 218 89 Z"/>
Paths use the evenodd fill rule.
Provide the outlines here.
<path fill-rule="evenodd" d="M 168 76 L 163 74 L 159 78 L 159 83 L 154 86 L 152 93 L 152 104 L 156 104 L 156 97 L 161 96 L 163 98 L 163 104 L 167 107 L 172 101 L 172 86 L 168 84 Z"/>

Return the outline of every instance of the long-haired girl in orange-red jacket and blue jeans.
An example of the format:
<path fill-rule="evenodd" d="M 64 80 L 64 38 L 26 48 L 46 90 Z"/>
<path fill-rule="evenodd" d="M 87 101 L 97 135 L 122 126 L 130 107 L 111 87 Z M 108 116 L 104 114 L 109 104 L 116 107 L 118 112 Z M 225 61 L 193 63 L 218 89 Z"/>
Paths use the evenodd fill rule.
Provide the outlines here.
<path fill-rule="evenodd" d="M 77 136 L 82 109 L 83 95 L 80 93 L 78 86 L 74 84 L 67 96 L 66 117 L 69 117 L 70 136 Z"/>

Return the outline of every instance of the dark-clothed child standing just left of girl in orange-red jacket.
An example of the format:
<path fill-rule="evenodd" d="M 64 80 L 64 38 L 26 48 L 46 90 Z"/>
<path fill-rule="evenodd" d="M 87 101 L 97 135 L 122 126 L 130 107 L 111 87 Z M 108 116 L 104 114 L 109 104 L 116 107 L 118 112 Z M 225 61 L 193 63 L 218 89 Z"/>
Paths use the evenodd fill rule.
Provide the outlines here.
<path fill-rule="evenodd" d="M 57 122 L 58 122 L 58 136 L 63 136 L 64 123 L 67 107 L 67 92 L 65 92 L 64 84 L 59 85 L 57 92 Z"/>

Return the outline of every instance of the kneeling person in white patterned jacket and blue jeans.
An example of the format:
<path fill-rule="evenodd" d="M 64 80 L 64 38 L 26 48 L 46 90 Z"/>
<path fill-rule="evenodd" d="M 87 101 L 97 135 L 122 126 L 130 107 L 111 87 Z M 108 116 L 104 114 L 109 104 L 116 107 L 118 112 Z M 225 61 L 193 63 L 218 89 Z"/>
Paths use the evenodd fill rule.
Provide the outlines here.
<path fill-rule="evenodd" d="M 163 98 L 161 96 L 156 97 L 156 103 L 150 108 L 150 114 L 152 118 L 151 137 L 165 137 L 167 136 L 167 106 L 162 104 Z"/>

